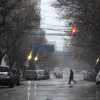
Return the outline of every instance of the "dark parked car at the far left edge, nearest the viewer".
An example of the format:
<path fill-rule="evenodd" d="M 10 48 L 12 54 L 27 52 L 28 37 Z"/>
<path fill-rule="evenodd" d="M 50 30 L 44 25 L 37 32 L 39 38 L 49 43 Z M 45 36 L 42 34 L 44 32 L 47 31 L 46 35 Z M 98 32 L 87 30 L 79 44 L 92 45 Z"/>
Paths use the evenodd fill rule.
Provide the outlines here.
<path fill-rule="evenodd" d="M 0 85 L 14 85 L 20 84 L 20 74 L 17 69 L 10 69 L 8 66 L 0 66 Z"/>

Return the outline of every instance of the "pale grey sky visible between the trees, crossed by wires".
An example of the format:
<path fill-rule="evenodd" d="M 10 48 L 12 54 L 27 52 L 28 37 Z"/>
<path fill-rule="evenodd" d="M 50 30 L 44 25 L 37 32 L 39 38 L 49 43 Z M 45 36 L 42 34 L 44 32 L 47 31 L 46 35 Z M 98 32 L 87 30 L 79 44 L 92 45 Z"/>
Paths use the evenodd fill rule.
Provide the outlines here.
<path fill-rule="evenodd" d="M 66 24 L 65 20 L 59 19 L 59 14 L 57 14 L 57 11 L 55 8 L 53 8 L 51 5 L 55 0 L 41 0 L 41 28 L 46 28 L 44 31 L 46 33 L 61 33 L 62 31 L 55 31 L 55 30 L 48 30 L 49 29 L 60 29 L 64 30 Z M 62 36 L 48 36 L 46 35 L 46 38 L 48 42 L 55 43 L 56 50 L 62 51 L 64 46 L 64 40 Z"/>

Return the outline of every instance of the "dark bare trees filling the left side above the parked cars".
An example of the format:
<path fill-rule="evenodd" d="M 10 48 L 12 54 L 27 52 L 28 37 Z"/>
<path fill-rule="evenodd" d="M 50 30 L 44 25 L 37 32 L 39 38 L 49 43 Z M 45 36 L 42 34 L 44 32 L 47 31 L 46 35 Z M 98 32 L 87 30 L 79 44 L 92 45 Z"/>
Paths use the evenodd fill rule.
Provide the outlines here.
<path fill-rule="evenodd" d="M 10 66 L 24 59 L 28 47 L 28 35 L 34 25 L 39 27 L 40 17 L 36 4 L 31 0 L 0 0 L 0 60 L 6 53 Z"/>

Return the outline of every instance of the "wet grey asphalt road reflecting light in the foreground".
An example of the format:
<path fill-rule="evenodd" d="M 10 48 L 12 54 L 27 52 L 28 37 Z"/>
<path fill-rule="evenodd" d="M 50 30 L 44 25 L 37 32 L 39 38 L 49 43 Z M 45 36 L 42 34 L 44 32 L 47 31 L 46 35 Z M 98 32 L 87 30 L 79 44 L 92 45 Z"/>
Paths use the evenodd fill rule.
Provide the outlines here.
<path fill-rule="evenodd" d="M 78 81 L 69 87 L 62 79 L 23 81 L 14 88 L 0 87 L 0 100 L 100 100 L 100 87 Z"/>

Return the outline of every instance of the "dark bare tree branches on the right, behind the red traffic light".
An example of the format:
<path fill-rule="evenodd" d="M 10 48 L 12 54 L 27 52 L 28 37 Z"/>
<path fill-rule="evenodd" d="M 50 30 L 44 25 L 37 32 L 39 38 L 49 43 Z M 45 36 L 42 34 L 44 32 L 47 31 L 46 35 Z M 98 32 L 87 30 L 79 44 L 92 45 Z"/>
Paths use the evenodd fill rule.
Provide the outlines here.
<path fill-rule="evenodd" d="M 57 0 L 61 7 L 67 10 L 65 16 L 70 16 L 77 25 L 78 32 L 73 37 L 72 44 L 75 54 L 90 64 L 95 64 L 100 55 L 100 3 L 99 0 Z M 80 51 L 78 52 L 79 49 Z"/>

